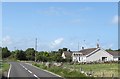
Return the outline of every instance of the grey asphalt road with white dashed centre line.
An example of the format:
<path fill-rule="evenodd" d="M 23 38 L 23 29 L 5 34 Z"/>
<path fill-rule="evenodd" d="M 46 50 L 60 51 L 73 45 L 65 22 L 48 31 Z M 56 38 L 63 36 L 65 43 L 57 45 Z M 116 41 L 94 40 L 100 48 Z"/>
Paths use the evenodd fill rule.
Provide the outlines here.
<path fill-rule="evenodd" d="M 63 79 L 23 62 L 10 62 L 8 77 L 10 79 Z"/>

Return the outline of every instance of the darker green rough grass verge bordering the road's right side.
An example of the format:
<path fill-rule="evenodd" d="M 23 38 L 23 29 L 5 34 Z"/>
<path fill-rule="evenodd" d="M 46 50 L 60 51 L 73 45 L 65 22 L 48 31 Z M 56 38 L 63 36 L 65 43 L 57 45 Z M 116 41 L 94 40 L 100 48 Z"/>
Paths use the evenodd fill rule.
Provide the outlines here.
<path fill-rule="evenodd" d="M 72 71 L 72 70 L 69 70 L 69 69 L 63 69 L 61 67 L 56 67 L 56 66 L 52 66 L 50 68 L 47 68 L 45 65 L 38 64 L 38 63 L 34 63 L 33 65 L 37 66 L 39 68 L 51 71 L 53 73 L 56 73 L 56 74 L 66 78 L 66 79 L 72 79 L 73 77 L 74 77 L 74 79 L 75 79 L 75 77 L 76 77 L 76 79 L 80 78 L 80 77 L 81 78 L 83 77 L 84 79 L 86 78 L 86 76 L 84 74 L 81 74 L 79 71 L 76 71 L 76 70 Z"/>

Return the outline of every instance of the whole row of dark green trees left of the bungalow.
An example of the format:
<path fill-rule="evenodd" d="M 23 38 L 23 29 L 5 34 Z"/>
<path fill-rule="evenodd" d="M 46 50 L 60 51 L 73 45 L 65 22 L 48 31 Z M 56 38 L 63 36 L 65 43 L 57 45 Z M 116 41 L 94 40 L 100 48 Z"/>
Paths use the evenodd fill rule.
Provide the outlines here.
<path fill-rule="evenodd" d="M 23 50 L 14 50 L 10 51 L 7 47 L 0 47 L 2 50 L 2 59 L 14 58 L 16 60 L 25 60 L 25 61 L 36 61 L 40 62 L 71 62 L 71 58 L 63 59 L 61 57 L 63 51 L 70 51 L 67 48 L 59 49 L 58 51 L 36 51 L 34 48 L 28 48 L 25 51 Z"/>

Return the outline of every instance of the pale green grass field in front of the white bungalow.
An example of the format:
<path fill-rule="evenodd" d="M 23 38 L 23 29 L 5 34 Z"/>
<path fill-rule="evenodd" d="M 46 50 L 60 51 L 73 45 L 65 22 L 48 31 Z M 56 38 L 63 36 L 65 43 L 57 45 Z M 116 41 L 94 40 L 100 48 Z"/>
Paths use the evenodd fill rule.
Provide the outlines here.
<path fill-rule="evenodd" d="M 102 77 L 103 74 L 105 77 L 111 77 L 112 75 L 118 77 L 118 64 L 111 63 L 111 64 L 80 64 L 80 65 L 63 65 L 66 68 L 74 69 L 76 71 L 80 71 L 82 68 L 85 72 L 93 71 L 93 76 Z"/>

